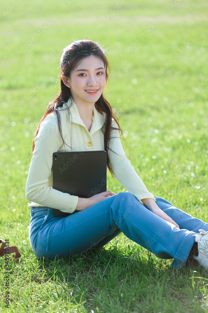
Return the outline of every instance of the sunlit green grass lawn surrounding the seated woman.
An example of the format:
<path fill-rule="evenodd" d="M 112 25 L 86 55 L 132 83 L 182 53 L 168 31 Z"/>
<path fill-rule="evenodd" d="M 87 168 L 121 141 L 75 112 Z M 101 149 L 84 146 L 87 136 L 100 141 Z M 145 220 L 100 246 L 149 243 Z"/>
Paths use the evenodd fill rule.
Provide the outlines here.
<path fill-rule="evenodd" d="M 38 260 L 25 198 L 32 139 L 59 91 L 62 49 L 85 38 L 107 49 L 105 95 L 148 190 L 208 222 L 207 1 L 130 0 L 119 10 L 121 1 L 110 0 L 12 3 L 1 12 L 0 238 L 22 258 L 10 264 L 9 312 L 207 312 L 208 275 L 200 265 L 169 269 L 171 259 L 124 234 L 97 253 Z M 126 190 L 107 178 L 109 190 Z M 1 312 L 8 311 L 4 271 L 1 264 Z"/>

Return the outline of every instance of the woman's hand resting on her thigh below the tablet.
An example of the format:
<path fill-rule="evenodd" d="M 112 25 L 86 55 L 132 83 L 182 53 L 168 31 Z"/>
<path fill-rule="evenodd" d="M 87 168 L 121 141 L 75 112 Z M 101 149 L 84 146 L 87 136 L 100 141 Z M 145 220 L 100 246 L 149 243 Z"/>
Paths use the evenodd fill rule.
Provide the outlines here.
<path fill-rule="evenodd" d="M 90 198 L 78 198 L 78 203 L 77 203 L 77 207 L 76 210 L 77 211 L 82 211 L 85 210 L 86 208 L 91 207 L 92 205 L 115 195 L 115 192 L 112 192 L 111 190 L 107 190 L 104 192 L 100 192 Z"/>

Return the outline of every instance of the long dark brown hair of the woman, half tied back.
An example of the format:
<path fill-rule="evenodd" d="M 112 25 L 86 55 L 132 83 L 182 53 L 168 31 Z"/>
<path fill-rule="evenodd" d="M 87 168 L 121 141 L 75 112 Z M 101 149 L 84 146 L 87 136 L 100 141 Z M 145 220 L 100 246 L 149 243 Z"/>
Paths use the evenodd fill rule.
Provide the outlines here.
<path fill-rule="evenodd" d="M 65 77 L 70 78 L 71 71 L 77 66 L 77 64 L 81 61 L 81 59 L 83 59 L 85 57 L 89 57 L 90 55 L 97 56 L 103 61 L 105 74 L 106 74 L 106 84 L 107 84 L 108 78 L 109 78 L 109 63 L 108 63 L 108 60 L 106 58 L 105 51 L 96 42 L 93 42 L 91 40 L 83 39 L 83 40 L 73 41 L 71 44 L 69 44 L 67 47 L 65 47 L 63 49 L 63 54 L 62 54 L 61 59 L 60 59 L 60 91 L 59 91 L 56 99 L 51 101 L 51 103 L 49 103 L 47 110 L 44 113 L 43 117 L 41 118 L 41 121 L 37 127 L 35 137 L 37 136 L 41 122 L 46 118 L 46 116 L 48 116 L 52 112 L 56 112 L 60 136 L 61 136 L 61 139 L 63 140 L 63 143 L 65 143 L 63 136 L 62 136 L 62 131 L 61 131 L 60 112 L 57 109 L 58 109 L 58 107 L 62 107 L 63 104 L 69 100 L 70 97 L 72 98 L 72 95 L 71 95 L 70 88 L 67 87 L 64 84 L 64 82 L 62 81 L 62 77 L 65 76 Z M 118 125 L 119 131 L 121 131 L 122 136 L 123 136 L 123 132 L 120 129 L 117 116 L 112 112 L 111 105 L 104 98 L 103 93 L 100 96 L 100 98 L 95 102 L 95 108 L 103 116 L 104 116 L 103 112 L 106 114 L 105 115 L 105 123 L 102 127 L 102 132 L 104 134 L 104 149 L 107 153 L 107 166 L 109 168 L 111 175 L 113 176 L 113 172 L 112 172 L 112 168 L 111 168 L 111 165 L 109 162 L 109 156 L 108 156 L 108 149 L 110 149 L 108 147 L 108 143 L 109 143 L 109 139 L 110 139 L 110 132 L 111 132 L 111 129 L 116 129 L 116 128 L 111 126 L 112 118 L 114 119 L 114 121 Z M 105 126 L 106 126 L 106 128 L 105 128 L 105 132 L 104 132 L 103 129 Z M 125 141 L 125 139 L 124 139 L 124 141 Z M 34 148 L 35 148 L 35 142 L 33 140 L 32 151 L 34 151 Z"/>

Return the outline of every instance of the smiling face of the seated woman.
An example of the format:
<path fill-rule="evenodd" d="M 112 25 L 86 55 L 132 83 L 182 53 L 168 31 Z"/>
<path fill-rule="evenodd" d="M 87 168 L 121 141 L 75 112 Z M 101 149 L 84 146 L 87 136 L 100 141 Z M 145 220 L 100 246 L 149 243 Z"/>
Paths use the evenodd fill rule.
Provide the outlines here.
<path fill-rule="evenodd" d="M 94 55 L 85 57 L 67 78 L 68 87 L 76 104 L 94 104 L 101 96 L 106 76 L 103 61 Z"/>

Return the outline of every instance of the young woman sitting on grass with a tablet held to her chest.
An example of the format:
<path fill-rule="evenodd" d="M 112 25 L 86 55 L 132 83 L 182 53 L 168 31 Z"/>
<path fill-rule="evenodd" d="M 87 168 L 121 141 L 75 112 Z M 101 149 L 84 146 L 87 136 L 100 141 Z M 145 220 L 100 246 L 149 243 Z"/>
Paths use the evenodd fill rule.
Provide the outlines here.
<path fill-rule="evenodd" d="M 158 258 L 173 258 L 170 267 L 181 268 L 196 259 L 208 270 L 208 223 L 148 192 L 125 156 L 118 119 L 103 95 L 108 72 L 97 43 L 78 40 L 64 49 L 61 90 L 38 125 L 26 184 L 35 255 L 54 259 L 82 254 L 123 232 Z M 128 192 L 108 190 L 79 198 L 53 189 L 54 152 L 93 150 L 107 152 L 110 173 Z M 53 208 L 75 214 L 55 217 Z"/>

